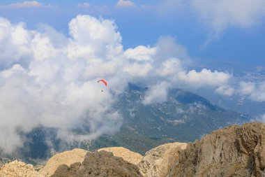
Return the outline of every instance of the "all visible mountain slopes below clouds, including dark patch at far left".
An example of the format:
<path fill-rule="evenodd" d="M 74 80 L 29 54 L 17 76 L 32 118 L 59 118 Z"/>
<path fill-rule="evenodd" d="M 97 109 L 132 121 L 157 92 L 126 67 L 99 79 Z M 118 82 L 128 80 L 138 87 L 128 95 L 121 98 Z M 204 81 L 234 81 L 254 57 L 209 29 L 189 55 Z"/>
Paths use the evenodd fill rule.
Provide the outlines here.
<path fill-rule="evenodd" d="M 161 144 L 192 142 L 215 129 L 240 125 L 251 119 L 180 89 L 169 90 L 167 100 L 162 103 L 144 105 L 142 100 L 148 89 L 130 84 L 126 92 L 119 95 L 113 108 L 123 117 L 123 125 L 113 136 L 103 135 L 93 141 L 68 144 L 56 139 L 56 129 L 36 127 L 23 135 L 27 141 L 10 157 L 34 163 L 34 160 L 45 160 L 64 150 L 84 148 L 93 151 L 110 146 L 122 146 L 144 155 Z M 52 150 L 47 139 L 53 144 Z"/>

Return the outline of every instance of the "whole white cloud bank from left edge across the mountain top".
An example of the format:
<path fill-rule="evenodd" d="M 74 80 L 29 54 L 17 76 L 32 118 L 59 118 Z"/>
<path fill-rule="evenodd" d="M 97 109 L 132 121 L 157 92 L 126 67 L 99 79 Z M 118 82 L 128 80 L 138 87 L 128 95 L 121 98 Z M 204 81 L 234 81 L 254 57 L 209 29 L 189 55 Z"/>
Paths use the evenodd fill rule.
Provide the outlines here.
<path fill-rule="evenodd" d="M 28 30 L 22 22 L 0 18 L 0 26 L 0 148 L 6 153 L 22 146 L 18 129 L 30 132 L 38 125 L 59 129 L 59 138 L 67 141 L 114 134 L 122 118 L 112 105 L 128 83 L 150 87 L 143 104 L 165 101 L 171 87 L 234 94 L 231 73 L 187 69 L 187 50 L 169 36 L 124 50 L 114 21 L 89 15 L 69 22 L 70 37 L 47 24 Z M 97 83 L 100 78 L 107 88 Z M 250 90 L 242 92 L 254 98 Z"/>

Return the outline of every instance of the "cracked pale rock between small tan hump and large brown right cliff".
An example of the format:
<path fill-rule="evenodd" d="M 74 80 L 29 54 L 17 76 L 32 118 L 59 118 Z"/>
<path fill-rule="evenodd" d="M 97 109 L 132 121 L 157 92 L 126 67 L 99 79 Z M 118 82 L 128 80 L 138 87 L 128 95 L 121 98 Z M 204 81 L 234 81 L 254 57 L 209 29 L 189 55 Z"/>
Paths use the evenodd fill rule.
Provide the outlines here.
<path fill-rule="evenodd" d="M 139 162 L 139 169 L 146 177 L 164 177 L 179 157 L 179 150 L 185 149 L 187 143 L 167 143 L 146 152 Z"/>

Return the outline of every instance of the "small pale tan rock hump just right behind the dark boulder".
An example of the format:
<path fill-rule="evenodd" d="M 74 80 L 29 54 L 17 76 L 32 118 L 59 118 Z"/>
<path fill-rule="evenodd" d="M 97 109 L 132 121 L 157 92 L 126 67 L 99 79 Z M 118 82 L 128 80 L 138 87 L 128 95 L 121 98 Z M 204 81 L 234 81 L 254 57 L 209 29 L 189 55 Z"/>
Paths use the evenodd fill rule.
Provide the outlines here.
<path fill-rule="evenodd" d="M 98 151 L 105 150 L 107 152 L 113 153 L 116 157 L 122 157 L 123 160 L 130 162 L 131 164 L 139 164 L 139 162 L 142 160 L 142 155 L 139 153 L 134 153 L 131 150 L 128 150 L 123 147 L 110 147 L 110 148 L 101 148 Z"/>

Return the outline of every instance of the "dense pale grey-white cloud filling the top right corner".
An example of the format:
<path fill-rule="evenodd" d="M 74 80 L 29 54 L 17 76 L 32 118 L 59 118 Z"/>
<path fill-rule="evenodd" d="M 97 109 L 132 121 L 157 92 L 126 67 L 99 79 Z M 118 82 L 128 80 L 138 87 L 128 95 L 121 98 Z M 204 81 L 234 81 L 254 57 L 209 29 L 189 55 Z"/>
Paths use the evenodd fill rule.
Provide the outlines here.
<path fill-rule="evenodd" d="M 265 15 L 263 0 L 192 0 L 190 7 L 215 38 L 228 27 L 252 27 Z"/>

